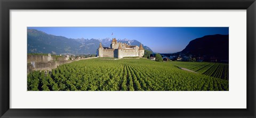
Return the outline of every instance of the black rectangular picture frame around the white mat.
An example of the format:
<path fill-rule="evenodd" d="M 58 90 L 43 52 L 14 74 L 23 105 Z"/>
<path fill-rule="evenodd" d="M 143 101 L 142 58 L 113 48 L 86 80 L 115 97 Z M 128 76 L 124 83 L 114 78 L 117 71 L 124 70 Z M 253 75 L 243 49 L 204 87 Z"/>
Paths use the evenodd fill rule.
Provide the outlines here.
<path fill-rule="evenodd" d="M 255 117 L 255 0 L 0 0 L 1 117 Z M 246 10 L 246 109 L 10 109 L 10 10 Z"/>

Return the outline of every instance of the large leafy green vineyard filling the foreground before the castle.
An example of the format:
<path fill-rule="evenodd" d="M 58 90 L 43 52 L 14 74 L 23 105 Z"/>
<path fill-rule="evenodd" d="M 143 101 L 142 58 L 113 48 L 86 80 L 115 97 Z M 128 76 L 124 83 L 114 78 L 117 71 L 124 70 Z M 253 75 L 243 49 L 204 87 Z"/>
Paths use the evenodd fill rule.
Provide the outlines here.
<path fill-rule="evenodd" d="M 81 60 L 60 65 L 50 72 L 34 71 L 29 73 L 27 89 L 30 91 L 228 90 L 228 80 L 214 78 L 223 76 L 228 78 L 228 75 L 217 73 L 217 76 L 217 74 L 213 74 L 216 73 L 215 70 L 212 73 L 210 73 L 211 70 L 206 68 L 196 70 L 193 69 L 193 64 L 186 65 L 185 62 L 183 63 L 182 65 L 182 62 L 155 62 L 147 59 Z M 212 63 L 202 63 L 200 66 L 210 66 L 203 64 L 212 65 Z M 186 66 L 186 68 L 196 70 L 198 73 L 181 70 L 177 68 L 178 65 Z M 215 67 L 215 64 L 211 66 L 211 68 L 213 67 Z M 219 65 L 215 68 L 218 69 Z M 221 73 L 225 69 L 223 68 L 218 72 Z M 206 72 L 209 74 L 206 74 Z"/>

